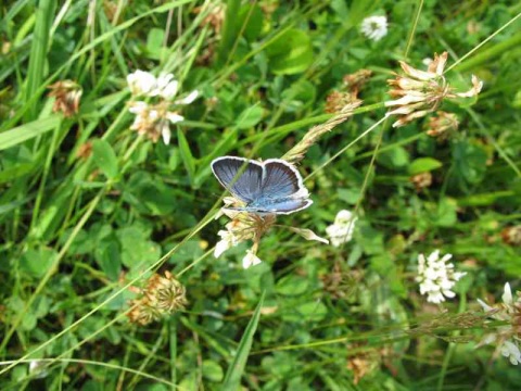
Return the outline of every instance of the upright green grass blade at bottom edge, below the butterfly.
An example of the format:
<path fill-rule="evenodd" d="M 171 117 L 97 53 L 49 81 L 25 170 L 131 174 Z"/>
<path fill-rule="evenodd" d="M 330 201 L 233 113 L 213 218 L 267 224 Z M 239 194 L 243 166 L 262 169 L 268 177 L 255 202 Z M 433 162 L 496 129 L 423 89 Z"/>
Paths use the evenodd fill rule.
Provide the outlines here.
<path fill-rule="evenodd" d="M 237 354 L 233 356 L 233 361 L 226 373 L 225 382 L 221 388 L 223 390 L 233 391 L 238 390 L 241 386 L 242 373 L 244 371 L 247 355 L 252 349 L 253 335 L 255 333 L 258 320 L 260 319 L 260 308 L 263 307 L 264 297 L 265 292 L 263 292 L 260 295 L 257 307 L 255 308 L 255 312 L 253 313 L 253 316 L 250 319 L 246 329 L 244 330 L 241 342 L 239 342 Z"/>

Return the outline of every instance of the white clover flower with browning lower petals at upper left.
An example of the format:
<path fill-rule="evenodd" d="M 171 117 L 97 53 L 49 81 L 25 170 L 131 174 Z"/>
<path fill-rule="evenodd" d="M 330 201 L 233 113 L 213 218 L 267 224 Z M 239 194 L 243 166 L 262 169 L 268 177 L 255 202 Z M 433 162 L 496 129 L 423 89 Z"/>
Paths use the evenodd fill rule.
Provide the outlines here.
<path fill-rule="evenodd" d="M 162 73 L 155 77 L 149 72 L 136 71 L 127 76 L 128 88 L 132 97 L 158 98 L 157 104 L 145 101 L 131 101 L 129 111 L 136 114 L 132 130 L 147 135 L 152 141 L 157 141 L 160 135 L 165 144 L 170 142 L 170 126 L 185 119 L 177 112 L 169 111 L 169 105 L 186 105 L 192 103 L 199 96 L 198 91 L 190 92 L 187 97 L 171 101 L 179 90 L 179 81 L 173 74 Z"/>

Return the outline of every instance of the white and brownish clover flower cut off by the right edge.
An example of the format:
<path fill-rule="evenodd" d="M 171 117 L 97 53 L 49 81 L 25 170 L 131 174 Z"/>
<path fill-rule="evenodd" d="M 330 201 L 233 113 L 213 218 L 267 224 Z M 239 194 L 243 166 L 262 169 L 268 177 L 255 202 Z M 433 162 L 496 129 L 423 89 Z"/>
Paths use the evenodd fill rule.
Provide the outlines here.
<path fill-rule="evenodd" d="M 512 365 L 521 363 L 521 339 L 519 337 L 519 319 L 521 318 L 521 298 L 513 300 L 510 285 L 505 283 L 503 304 L 495 307 L 478 299 L 483 311 L 491 312 L 491 317 L 496 320 L 504 320 L 510 325 L 499 326 L 494 333 L 486 335 L 480 345 L 497 343 L 501 355 L 507 357 Z"/>

